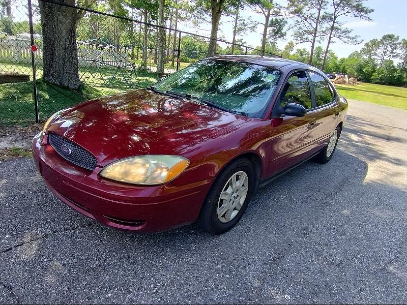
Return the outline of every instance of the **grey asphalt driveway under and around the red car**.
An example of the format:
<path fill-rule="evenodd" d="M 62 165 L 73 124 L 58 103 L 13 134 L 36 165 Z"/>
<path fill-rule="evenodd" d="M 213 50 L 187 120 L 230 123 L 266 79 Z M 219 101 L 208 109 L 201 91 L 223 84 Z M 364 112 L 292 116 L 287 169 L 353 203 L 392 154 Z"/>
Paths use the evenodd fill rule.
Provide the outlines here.
<path fill-rule="evenodd" d="M 338 149 L 261 189 L 230 232 L 104 227 L 0 163 L 1 303 L 405 303 L 407 111 L 350 101 Z"/>

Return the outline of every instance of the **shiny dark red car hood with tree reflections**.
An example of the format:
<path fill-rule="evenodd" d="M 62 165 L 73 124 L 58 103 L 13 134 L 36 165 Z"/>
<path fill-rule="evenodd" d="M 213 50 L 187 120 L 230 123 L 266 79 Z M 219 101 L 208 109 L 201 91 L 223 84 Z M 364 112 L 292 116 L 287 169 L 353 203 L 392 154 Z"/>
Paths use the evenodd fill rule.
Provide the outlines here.
<path fill-rule="evenodd" d="M 67 109 L 47 132 L 74 141 L 89 150 L 99 166 L 104 166 L 130 156 L 176 154 L 249 120 L 186 99 L 139 89 Z"/>

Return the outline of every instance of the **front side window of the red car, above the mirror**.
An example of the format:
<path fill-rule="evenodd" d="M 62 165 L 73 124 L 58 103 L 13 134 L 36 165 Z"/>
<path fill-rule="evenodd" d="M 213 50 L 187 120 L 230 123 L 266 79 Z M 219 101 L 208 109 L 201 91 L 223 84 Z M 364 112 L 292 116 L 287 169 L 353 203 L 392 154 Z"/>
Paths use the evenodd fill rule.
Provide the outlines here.
<path fill-rule="evenodd" d="M 296 103 L 304 106 L 305 109 L 311 108 L 311 93 L 305 71 L 299 71 L 291 75 L 285 84 L 283 94 L 284 92 L 281 107 L 285 107 L 288 103 Z"/>

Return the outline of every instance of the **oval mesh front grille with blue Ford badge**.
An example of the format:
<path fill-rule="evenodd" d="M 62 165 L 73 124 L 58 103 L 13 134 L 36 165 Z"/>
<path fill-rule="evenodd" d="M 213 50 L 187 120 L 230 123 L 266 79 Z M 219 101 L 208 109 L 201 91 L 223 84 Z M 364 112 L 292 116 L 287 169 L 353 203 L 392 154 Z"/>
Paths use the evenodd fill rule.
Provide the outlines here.
<path fill-rule="evenodd" d="M 49 144 L 55 149 L 62 158 L 77 166 L 94 170 L 97 164 L 96 158 L 74 142 L 61 137 L 60 135 L 51 133 L 48 136 Z"/>

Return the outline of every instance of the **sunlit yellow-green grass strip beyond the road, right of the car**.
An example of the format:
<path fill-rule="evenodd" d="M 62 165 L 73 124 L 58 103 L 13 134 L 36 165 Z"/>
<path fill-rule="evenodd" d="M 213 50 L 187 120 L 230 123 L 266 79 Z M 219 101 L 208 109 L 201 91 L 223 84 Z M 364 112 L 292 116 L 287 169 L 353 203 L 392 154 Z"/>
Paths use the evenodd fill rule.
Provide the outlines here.
<path fill-rule="evenodd" d="M 407 110 L 407 88 L 369 83 L 360 86 L 335 85 L 346 99 L 370 102 Z"/>

